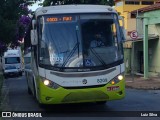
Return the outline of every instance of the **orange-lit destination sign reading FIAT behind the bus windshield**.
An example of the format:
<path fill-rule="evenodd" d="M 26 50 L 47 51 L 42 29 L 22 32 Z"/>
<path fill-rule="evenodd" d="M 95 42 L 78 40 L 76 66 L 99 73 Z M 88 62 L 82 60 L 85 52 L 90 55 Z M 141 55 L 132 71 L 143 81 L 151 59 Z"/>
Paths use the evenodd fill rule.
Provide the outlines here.
<path fill-rule="evenodd" d="M 75 18 L 73 16 L 49 16 L 46 18 L 47 22 L 71 22 L 74 20 Z"/>

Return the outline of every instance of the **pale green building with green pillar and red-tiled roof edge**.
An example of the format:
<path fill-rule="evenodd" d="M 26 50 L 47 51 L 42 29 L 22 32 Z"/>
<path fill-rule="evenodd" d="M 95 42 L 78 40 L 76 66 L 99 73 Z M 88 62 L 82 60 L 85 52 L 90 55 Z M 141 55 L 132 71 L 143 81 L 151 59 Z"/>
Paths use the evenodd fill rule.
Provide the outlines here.
<path fill-rule="evenodd" d="M 138 16 L 138 13 L 141 16 Z M 144 37 L 140 43 L 142 45 L 139 45 L 136 49 L 138 51 L 141 48 L 143 51 L 144 67 L 142 72 L 145 78 L 149 76 L 160 76 L 160 1 L 157 1 L 154 5 L 138 9 L 138 13 L 136 11 L 131 12 L 131 14 L 138 16 L 137 21 L 141 20 L 143 23 L 142 34 Z M 138 22 L 138 27 L 140 25 L 140 22 Z"/>

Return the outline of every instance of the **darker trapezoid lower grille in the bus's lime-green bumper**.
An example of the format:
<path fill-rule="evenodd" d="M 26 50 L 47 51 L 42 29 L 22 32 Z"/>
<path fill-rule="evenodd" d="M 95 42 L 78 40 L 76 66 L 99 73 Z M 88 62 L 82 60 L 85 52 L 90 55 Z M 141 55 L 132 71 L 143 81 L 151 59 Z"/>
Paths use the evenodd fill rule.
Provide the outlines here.
<path fill-rule="evenodd" d="M 63 100 L 63 103 L 72 102 L 90 102 L 109 99 L 108 95 L 101 91 L 89 91 L 89 92 L 71 92 Z"/>

